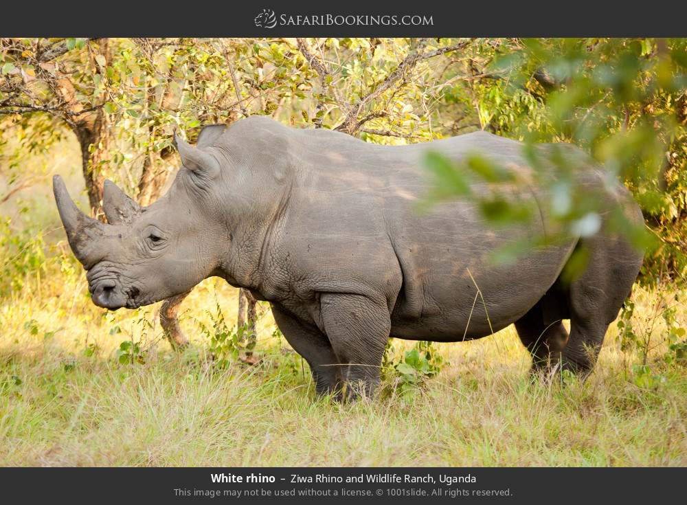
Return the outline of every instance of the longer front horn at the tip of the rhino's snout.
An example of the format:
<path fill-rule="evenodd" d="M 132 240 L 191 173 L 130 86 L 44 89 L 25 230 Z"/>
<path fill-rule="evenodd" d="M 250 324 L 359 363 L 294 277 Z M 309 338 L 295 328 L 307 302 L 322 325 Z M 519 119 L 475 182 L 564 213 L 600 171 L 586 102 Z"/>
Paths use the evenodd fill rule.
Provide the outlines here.
<path fill-rule="evenodd" d="M 69 246 L 82 265 L 86 265 L 87 253 L 93 247 L 93 243 L 104 235 L 105 225 L 79 210 L 67 192 L 65 181 L 59 175 L 52 178 L 52 190 L 60 219 L 67 232 Z"/>

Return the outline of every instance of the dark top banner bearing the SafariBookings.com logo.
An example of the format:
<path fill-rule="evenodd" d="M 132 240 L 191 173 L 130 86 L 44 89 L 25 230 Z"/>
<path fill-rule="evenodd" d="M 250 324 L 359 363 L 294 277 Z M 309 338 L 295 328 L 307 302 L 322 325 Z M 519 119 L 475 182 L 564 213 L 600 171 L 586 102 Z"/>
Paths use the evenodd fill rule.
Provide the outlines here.
<path fill-rule="evenodd" d="M 53 2 L 0 10 L 0 36 L 687 36 L 687 2 Z M 12 12 L 16 11 L 16 12 Z"/>

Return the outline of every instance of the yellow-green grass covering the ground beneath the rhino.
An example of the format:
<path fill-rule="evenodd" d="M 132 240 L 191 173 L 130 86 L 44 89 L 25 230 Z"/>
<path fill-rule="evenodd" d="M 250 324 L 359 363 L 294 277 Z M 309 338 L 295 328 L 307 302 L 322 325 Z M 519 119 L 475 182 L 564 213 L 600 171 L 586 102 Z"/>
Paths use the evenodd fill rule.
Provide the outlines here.
<path fill-rule="evenodd" d="M 339 405 L 315 399 L 307 366 L 273 335 L 269 311 L 259 366 L 213 366 L 198 322 L 210 324 L 216 300 L 233 324 L 236 291 L 223 282 L 207 280 L 185 301 L 192 347 L 177 354 L 161 341 L 157 306 L 106 313 L 72 266 L 48 278 L 29 272 L 1 300 L 2 465 L 687 464 L 687 370 L 662 360 L 660 324 L 649 387 L 637 385 L 638 357 L 621 350 L 615 325 L 595 372 L 565 385 L 530 380 L 528 353 L 509 327 L 436 344 L 450 364 L 409 394 L 387 378 L 378 401 Z M 638 326 L 653 297 L 635 296 Z M 139 343 L 142 363 L 119 363 L 126 340 Z"/>

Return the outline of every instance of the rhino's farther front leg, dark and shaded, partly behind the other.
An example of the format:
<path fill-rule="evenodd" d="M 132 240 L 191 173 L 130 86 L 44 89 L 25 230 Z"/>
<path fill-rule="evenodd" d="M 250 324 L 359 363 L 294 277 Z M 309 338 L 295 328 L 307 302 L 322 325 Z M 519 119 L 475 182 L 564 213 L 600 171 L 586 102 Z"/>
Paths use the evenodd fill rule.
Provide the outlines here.
<path fill-rule="evenodd" d="M 274 320 L 286 341 L 308 362 L 313 372 L 315 392 L 341 399 L 341 367 L 327 336 L 316 326 L 301 322 L 280 306 L 271 304 L 271 307 Z"/>

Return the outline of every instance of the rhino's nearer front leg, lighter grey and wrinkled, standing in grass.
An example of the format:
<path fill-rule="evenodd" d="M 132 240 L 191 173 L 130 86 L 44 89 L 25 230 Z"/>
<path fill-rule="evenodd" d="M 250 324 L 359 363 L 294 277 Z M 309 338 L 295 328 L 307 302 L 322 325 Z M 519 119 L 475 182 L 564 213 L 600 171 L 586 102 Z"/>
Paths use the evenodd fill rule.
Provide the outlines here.
<path fill-rule="evenodd" d="M 389 309 L 385 302 L 343 293 L 323 293 L 320 305 L 327 337 L 344 365 L 346 399 L 372 398 L 389 340 Z"/>

